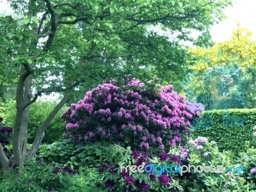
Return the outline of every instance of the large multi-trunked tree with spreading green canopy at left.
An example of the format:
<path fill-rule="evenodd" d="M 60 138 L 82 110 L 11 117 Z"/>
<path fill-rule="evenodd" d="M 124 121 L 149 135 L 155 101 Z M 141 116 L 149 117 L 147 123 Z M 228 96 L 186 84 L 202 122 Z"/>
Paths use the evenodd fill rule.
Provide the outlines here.
<path fill-rule="evenodd" d="M 10 22 L 12 18 L 2 17 L 0 29 L 11 32 L 0 35 L 4 51 L 11 52 L 3 65 L 19 71 L 13 127 L 13 159 L 18 164 L 34 156 L 47 125 L 72 95 L 72 88 L 84 90 L 124 74 L 145 81 L 160 76 L 160 83 L 181 78 L 186 50 L 179 40 L 193 41 L 190 29 L 204 32 L 230 4 L 228 0 L 8 2 L 20 18 Z M 177 38 L 169 40 L 147 30 L 157 24 L 175 32 Z M 63 93 L 63 98 L 38 127 L 27 150 L 29 105 L 52 92 Z M 12 163 L 1 145 L 0 154 L 2 167 Z"/>

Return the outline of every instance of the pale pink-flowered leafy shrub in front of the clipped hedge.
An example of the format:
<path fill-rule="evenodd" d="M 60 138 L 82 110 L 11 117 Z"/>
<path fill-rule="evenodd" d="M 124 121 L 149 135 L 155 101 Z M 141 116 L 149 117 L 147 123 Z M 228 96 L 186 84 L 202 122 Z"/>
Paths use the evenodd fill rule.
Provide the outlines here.
<path fill-rule="evenodd" d="M 255 184 L 246 180 L 246 173 L 236 173 L 233 170 L 227 171 L 226 168 L 246 165 L 243 161 L 235 163 L 230 152 L 220 152 L 215 141 L 207 141 L 207 138 L 198 137 L 195 140 L 189 140 L 188 144 L 189 157 L 188 163 L 194 166 L 215 166 L 222 165 L 221 173 L 212 173 L 213 167 L 208 172 L 191 172 L 188 173 L 190 192 L 196 191 L 249 191 L 255 188 Z M 193 170 L 193 169 L 192 169 Z M 220 170 L 218 168 L 218 170 Z M 248 181 L 248 182 L 246 182 Z"/>

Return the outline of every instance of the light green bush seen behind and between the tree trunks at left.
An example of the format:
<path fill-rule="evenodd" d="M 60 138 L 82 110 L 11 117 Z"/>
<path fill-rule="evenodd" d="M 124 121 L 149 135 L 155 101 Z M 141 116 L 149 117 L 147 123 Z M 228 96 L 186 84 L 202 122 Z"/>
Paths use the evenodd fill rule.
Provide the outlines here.
<path fill-rule="evenodd" d="M 28 122 L 28 143 L 32 143 L 38 127 L 44 122 L 57 102 L 42 102 L 37 101 L 29 106 L 29 122 Z M 53 143 L 62 138 L 62 133 L 65 130 L 65 124 L 60 120 L 60 115 L 65 111 L 66 106 L 60 109 L 57 115 L 53 118 L 45 131 L 45 137 L 42 143 Z M 15 124 L 15 101 L 11 100 L 4 105 L 5 122 L 8 126 L 13 127 Z"/>

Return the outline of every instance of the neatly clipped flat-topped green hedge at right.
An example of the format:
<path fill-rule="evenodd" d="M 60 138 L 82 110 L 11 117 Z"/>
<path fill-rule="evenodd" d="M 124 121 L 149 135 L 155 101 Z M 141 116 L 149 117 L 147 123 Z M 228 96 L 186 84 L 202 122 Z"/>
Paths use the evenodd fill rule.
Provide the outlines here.
<path fill-rule="evenodd" d="M 244 151 L 245 141 L 252 141 L 256 125 L 256 109 L 223 109 L 204 111 L 191 124 L 193 138 L 204 136 L 214 140 L 221 151 L 234 154 Z"/>

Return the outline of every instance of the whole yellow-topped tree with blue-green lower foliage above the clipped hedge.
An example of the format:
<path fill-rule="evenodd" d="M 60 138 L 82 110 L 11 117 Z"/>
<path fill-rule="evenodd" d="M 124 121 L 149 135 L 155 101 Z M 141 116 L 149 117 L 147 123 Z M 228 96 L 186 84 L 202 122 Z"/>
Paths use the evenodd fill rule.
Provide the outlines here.
<path fill-rule="evenodd" d="M 256 42 L 252 35 L 237 23 L 227 41 L 212 47 L 191 48 L 197 59 L 191 65 L 187 97 L 196 97 L 206 109 L 256 106 L 256 89 L 250 87 L 256 83 L 255 77 L 252 73 L 248 75 L 256 63 Z"/>

